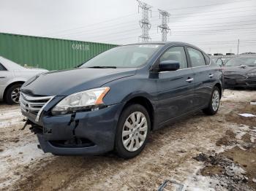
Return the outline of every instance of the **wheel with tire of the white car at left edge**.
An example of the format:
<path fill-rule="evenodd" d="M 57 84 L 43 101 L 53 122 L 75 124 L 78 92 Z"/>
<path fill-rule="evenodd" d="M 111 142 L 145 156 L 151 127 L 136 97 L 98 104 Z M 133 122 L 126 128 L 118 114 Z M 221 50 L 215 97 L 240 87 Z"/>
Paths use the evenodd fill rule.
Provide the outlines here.
<path fill-rule="evenodd" d="M 22 84 L 19 83 L 8 87 L 4 96 L 4 101 L 6 101 L 7 104 L 19 104 L 21 86 Z"/>

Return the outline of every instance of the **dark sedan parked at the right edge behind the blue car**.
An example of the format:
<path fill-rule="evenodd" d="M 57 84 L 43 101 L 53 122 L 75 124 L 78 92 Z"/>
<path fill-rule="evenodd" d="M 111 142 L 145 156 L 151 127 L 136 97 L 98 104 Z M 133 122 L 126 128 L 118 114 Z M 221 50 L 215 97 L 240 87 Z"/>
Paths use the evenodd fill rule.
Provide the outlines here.
<path fill-rule="evenodd" d="M 225 87 L 256 87 L 256 56 L 230 58 L 223 71 Z"/>

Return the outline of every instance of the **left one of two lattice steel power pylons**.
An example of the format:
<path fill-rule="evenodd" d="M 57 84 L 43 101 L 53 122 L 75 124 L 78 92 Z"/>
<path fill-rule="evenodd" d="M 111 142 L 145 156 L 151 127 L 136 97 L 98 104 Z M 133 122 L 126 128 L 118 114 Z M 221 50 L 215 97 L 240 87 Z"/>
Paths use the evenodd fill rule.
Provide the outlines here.
<path fill-rule="evenodd" d="M 142 42 L 148 42 L 148 39 L 151 39 L 148 36 L 148 31 L 151 28 L 151 23 L 148 20 L 148 12 L 151 14 L 151 6 L 149 4 L 146 4 L 142 1 L 138 1 L 138 12 L 140 12 L 140 9 L 142 11 L 142 18 L 139 21 L 140 28 L 142 28 L 142 34 L 139 36 L 139 39 L 142 39 Z"/>

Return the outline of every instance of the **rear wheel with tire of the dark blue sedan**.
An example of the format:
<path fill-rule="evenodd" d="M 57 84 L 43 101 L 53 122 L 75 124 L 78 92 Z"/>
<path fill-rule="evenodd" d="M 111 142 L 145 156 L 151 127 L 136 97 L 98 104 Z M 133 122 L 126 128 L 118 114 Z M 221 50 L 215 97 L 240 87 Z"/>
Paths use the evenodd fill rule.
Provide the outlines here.
<path fill-rule="evenodd" d="M 203 112 L 208 115 L 214 115 L 219 110 L 219 101 L 220 101 L 220 91 L 219 88 L 214 86 L 214 89 L 211 93 L 211 101 L 208 104 L 206 109 L 203 109 Z"/>

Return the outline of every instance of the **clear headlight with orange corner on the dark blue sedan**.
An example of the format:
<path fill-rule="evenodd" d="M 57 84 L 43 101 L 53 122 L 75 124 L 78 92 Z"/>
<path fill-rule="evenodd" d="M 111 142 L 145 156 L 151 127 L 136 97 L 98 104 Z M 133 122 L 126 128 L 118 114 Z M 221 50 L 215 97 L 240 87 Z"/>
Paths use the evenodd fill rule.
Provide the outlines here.
<path fill-rule="evenodd" d="M 88 109 L 99 109 L 104 103 L 102 99 L 108 93 L 110 87 L 99 87 L 83 92 L 73 93 L 61 100 L 51 110 L 53 115 L 68 114 Z"/>

